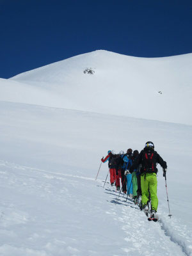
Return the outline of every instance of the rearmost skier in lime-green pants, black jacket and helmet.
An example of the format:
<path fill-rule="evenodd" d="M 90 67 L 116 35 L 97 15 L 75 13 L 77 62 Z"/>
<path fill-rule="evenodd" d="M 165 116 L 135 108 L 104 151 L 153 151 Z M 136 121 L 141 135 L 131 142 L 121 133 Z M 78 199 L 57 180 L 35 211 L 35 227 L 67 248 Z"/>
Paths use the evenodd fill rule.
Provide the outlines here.
<path fill-rule="evenodd" d="M 147 143 L 145 143 L 145 148 L 141 150 L 139 156 L 135 159 L 130 168 L 130 172 L 133 172 L 133 170 L 138 168 L 138 166 L 141 164 L 141 202 L 143 204 L 143 211 L 147 216 L 150 191 L 151 209 L 150 218 L 148 218 L 148 220 L 157 219 L 157 163 L 161 165 L 163 172 L 166 172 L 166 162 L 163 161 L 161 156 L 159 156 L 156 151 L 154 151 L 154 143 L 147 141 Z"/>

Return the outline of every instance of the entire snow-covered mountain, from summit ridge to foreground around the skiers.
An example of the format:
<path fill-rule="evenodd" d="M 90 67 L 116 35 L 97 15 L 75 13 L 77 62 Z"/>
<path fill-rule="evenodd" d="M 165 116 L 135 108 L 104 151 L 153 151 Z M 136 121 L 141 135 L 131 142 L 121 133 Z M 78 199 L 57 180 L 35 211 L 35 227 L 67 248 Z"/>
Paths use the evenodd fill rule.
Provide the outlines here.
<path fill-rule="evenodd" d="M 0 255 L 192 255 L 191 56 L 96 51 L 0 80 Z M 95 74 L 84 74 L 90 67 Z M 155 77 L 164 87 L 153 87 Z M 95 181 L 109 149 L 141 150 L 148 140 L 168 163 L 173 216 L 159 166 L 157 223 L 123 195 L 117 201 L 109 184 L 103 188 L 107 164 Z"/>

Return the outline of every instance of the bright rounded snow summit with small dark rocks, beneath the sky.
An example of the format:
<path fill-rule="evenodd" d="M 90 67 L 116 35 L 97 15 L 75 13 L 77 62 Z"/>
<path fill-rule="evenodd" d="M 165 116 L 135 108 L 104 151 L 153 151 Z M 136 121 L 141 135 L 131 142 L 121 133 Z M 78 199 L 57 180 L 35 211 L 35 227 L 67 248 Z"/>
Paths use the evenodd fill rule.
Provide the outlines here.
<path fill-rule="evenodd" d="M 95 74 L 84 74 L 86 68 Z M 191 125 L 191 69 L 192 54 L 136 58 L 94 51 L 12 77 L 10 83 L 25 83 L 22 99 L 10 95 L 19 84 L 1 80 L 0 100 L 36 104 L 43 93 L 42 106 Z"/>

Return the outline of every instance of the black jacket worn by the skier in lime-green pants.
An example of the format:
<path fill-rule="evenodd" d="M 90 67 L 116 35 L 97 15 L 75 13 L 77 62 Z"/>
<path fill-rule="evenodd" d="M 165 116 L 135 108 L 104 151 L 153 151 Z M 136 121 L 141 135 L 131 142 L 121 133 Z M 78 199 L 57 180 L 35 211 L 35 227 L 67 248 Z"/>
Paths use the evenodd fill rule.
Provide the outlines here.
<path fill-rule="evenodd" d="M 151 154 L 153 153 L 153 158 L 152 158 L 152 162 L 154 164 L 154 171 L 152 171 L 152 166 L 149 166 L 148 168 L 145 168 L 144 163 L 145 163 L 145 154 Z M 135 169 L 138 168 L 138 166 L 141 164 L 141 173 L 146 173 L 146 172 L 155 172 L 157 173 L 157 164 L 160 164 L 161 167 L 163 169 L 167 168 L 166 162 L 163 160 L 163 158 L 161 156 L 159 156 L 159 154 L 154 151 L 154 149 L 152 148 L 144 148 L 143 150 L 141 150 L 140 154 L 138 157 L 136 157 L 136 159 L 134 159 L 134 162 L 130 168 L 130 172 L 133 172 Z"/>

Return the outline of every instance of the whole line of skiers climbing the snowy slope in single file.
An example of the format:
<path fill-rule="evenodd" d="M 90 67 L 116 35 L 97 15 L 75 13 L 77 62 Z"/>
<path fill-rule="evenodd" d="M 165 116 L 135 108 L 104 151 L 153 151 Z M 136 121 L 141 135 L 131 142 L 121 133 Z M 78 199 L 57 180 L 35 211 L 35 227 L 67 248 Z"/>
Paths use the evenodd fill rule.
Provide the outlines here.
<path fill-rule="evenodd" d="M 157 221 L 157 164 L 163 168 L 163 175 L 166 174 L 167 165 L 154 150 L 154 143 L 147 141 L 140 153 L 138 150 L 132 152 L 132 148 L 125 154 L 122 150 L 119 154 L 109 150 L 108 155 L 102 157 L 101 161 L 108 161 L 111 186 L 116 186 L 116 190 L 120 191 L 121 179 L 123 193 L 133 198 L 134 204 L 138 204 L 141 198 L 140 209 L 147 216 L 150 210 L 148 220 Z"/>

